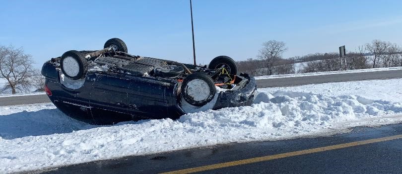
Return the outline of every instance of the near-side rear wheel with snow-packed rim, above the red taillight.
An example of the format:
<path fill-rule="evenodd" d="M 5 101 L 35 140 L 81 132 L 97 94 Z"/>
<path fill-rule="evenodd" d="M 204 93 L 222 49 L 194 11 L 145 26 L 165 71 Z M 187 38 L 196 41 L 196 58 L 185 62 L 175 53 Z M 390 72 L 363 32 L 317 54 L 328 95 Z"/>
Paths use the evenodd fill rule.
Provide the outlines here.
<path fill-rule="evenodd" d="M 60 67 L 68 79 L 83 79 L 88 69 L 88 61 L 79 51 L 71 50 L 62 55 Z"/>

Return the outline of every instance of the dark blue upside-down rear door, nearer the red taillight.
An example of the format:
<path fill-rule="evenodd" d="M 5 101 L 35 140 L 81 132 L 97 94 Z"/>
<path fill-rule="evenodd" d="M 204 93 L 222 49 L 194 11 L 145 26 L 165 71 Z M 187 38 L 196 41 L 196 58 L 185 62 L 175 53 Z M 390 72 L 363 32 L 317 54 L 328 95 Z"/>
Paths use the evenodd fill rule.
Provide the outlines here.
<path fill-rule="evenodd" d="M 127 113 L 127 89 L 130 82 L 124 76 L 110 72 L 96 73 L 90 94 L 90 105 L 99 109 Z"/>

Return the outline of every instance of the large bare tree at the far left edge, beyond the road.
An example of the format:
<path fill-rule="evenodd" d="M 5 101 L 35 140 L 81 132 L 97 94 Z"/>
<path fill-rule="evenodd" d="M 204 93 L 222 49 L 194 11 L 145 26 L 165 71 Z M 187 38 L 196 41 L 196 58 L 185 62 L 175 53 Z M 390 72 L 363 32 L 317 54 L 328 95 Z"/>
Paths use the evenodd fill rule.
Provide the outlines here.
<path fill-rule="evenodd" d="M 32 56 L 22 48 L 0 46 L 0 77 L 8 82 L 12 93 L 28 91 L 31 78 L 36 75 L 33 63 Z"/>

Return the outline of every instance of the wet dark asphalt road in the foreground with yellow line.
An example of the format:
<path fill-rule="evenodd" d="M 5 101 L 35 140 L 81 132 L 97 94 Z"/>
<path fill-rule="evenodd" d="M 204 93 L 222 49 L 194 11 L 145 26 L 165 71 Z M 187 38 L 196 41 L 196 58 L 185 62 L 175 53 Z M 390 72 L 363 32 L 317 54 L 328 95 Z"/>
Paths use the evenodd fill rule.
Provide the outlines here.
<path fill-rule="evenodd" d="M 390 136 L 394 136 L 394 139 Z M 357 127 L 350 133 L 330 137 L 233 143 L 91 162 L 38 173 L 154 174 L 176 171 L 181 174 L 191 170 L 177 170 L 193 168 L 194 171 L 196 168 L 200 174 L 393 174 L 401 173 L 402 170 L 401 138 L 402 124 L 378 128 Z M 359 145 L 359 141 L 364 141 L 366 144 Z M 317 149 L 314 148 L 325 151 L 315 152 Z M 265 156 L 277 158 L 265 158 L 263 161 L 251 160 L 251 163 L 245 164 L 248 159 Z M 211 165 L 214 169 L 209 170 Z"/>

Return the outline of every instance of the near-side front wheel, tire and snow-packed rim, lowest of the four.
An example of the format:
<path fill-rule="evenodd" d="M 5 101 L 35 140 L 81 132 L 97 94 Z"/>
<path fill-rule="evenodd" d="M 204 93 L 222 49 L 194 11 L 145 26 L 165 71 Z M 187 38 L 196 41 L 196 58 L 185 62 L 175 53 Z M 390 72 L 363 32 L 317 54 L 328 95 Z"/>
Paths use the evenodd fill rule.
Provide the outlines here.
<path fill-rule="evenodd" d="M 213 80 L 206 74 L 196 72 L 184 79 L 181 95 L 189 104 L 203 106 L 213 99 L 216 93 Z"/>

